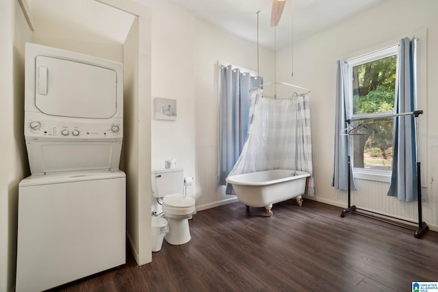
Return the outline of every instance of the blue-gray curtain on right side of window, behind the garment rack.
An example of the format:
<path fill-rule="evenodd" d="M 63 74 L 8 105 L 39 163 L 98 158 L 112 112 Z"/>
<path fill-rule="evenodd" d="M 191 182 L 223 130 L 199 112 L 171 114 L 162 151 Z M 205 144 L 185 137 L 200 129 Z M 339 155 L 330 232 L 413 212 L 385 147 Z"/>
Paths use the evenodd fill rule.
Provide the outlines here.
<path fill-rule="evenodd" d="M 415 55 L 416 40 L 400 40 L 397 56 L 396 114 L 415 109 Z M 414 117 L 394 118 L 394 143 L 392 150 L 392 174 L 388 196 L 403 201 L 418 198 L 416 175 L 416 148 Z"/>

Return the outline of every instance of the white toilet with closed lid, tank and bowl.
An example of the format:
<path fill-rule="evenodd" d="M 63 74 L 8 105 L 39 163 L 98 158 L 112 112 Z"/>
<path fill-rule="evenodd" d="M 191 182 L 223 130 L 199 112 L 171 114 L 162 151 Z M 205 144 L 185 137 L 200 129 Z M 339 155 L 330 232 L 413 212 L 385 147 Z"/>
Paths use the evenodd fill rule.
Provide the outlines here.
<path fill-rule="evenodd" d="M 182 169 L 152 171 L 153 196 L 162 198 L 163 213 L 169 224 L 164 239 L 172 245 L 188 243 L 191 238 L 188 220 L 195 211 L 195 200 L 181 194 L 183 183 Z"/>

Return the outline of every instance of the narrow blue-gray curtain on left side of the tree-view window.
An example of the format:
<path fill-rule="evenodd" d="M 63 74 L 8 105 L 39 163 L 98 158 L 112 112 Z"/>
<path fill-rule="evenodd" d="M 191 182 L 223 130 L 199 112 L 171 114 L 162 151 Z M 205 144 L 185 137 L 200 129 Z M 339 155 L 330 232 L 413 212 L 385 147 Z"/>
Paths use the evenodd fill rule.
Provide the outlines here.
<path fill-rule="evenodd" d="M 348 64 L 344 60 L 339 60 L 337 62 L 336 78 L 335 165 L 333 167 L 332 186 L 335 189 L 342 190 L 348 190 L 348 136 L 341 135 L 341 133 L 347 127 L 346 120 L 351 118 L 352 107 L 349 98 L 351 84 L 349 80 Z M 353 179 L 351 179 L 350 187 L 356 189 Z"/>

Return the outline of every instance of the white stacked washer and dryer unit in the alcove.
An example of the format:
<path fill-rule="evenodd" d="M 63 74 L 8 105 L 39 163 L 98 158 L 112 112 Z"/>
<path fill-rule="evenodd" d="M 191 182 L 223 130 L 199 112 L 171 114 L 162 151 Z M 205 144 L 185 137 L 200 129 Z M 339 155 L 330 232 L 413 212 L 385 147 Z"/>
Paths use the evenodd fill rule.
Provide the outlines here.
<path fill-rule="evenodd" d="M 26 44 L 16 291 L 42 291 L 123 265 L 123 66 Z"/>

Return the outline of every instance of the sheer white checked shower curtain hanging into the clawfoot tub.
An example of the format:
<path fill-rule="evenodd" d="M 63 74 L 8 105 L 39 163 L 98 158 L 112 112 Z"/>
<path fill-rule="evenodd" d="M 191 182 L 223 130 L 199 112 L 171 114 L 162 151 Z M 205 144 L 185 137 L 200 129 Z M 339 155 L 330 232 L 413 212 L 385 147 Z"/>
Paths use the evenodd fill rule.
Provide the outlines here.
<path fill-rule="evenodd" d="M 309 194 L 315 194 L 311 155 L 309 95 L 251 97 L 253 115 L 242 154 L 229 175 L 262 170 L 302 170 L 311 174 Z"/>

